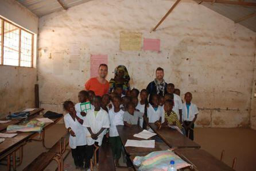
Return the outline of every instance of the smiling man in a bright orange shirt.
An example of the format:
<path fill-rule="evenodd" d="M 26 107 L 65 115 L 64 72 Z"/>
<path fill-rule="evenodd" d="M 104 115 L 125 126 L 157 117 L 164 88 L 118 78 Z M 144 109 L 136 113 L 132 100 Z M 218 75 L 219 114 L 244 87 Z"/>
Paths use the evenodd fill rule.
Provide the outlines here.
<path fill-rule="evenodd" d="M 99 76 L 93 77 L 86 82 L 86 90 L 92 90 L 96 96 L 103 96 L 108 92 L 109 83 L 106 80 L 107 76 L 107 65 L 99 65 Z"/>

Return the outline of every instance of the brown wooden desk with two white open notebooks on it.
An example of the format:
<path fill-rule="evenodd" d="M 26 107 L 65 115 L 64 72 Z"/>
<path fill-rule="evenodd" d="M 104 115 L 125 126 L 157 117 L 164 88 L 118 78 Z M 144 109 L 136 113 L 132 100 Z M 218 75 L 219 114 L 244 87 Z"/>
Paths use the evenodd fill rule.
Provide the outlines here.
<path fill-rule="evenodd" d="M 122 140 L 123 146 L 127 139 L 135 139 L 135 140 L 145 140 L 142 138 L 133 137 L 134 134 L 138 134 L 142 131 L 142 128 L 138 125 L 133 125 L 132 127 L 117 126 L 119 137 Z M 162 142 L 156 142 L 154 148 L 145 148 L 145 147 L 125 147 L 126 153 L 130 156 L 145 156 L 153 151 L 167 150 L 169 147 Z"/>

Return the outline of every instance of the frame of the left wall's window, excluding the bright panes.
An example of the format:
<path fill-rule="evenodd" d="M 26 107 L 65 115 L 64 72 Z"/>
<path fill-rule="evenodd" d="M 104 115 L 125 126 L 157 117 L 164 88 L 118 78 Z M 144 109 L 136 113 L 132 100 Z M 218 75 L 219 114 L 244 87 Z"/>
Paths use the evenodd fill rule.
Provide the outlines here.
<path fill-rule="evenodd" d="M 11 66 L 11 67 L 25 67 L 25 66 L 21 66 L 21 30 L 22 31 L 24 31 L 24 32 L 27 32 L 27 33 L 29 33 L 29 34 L 32 34 L 32 45 L 31 45 L 31 66 L 30 67 L 26 67 L 26 68 L 33 68 L 33 59 L 34 59 L 34 33 L 32 33 L 32 32 L 29 32 L 28 30 L 25 30 L 25 29 L 23 29 L 23 28 L 21 28 L 20 26 L 18 26 L 17 24 L 14 24 L 13 22 L 11 22 L 11 21 L 7 21 L 5 18 L 2 18 L 2 17 L 0 17 L 0 19 L 2 20 L 2 28 L 1 28 L 1 42 L 2 42 L 2 44 L 1 44 L 1 52 L 0 52 L 0 54 L 1 54 L 1 64 L 0 64 L 0 66 L 1 65 L 4 65 L 3 64 L 3 55 L 4 55 L 4 53 L 3 53 L 3 48 L 4 48 L 4 44 L 5 44 L 5 42 L 4 42 L 4 38 L 5 38 L 5 36 L 4 36 L 4 32 L 5 32 L 5 22 L 7 22 L 7 23 L 9 23 L 9 24 L 11 24 L 11 25 L 14 25 L 15 27 L 17 27 L 18 29 L 19 29 L 19 47 L 18 47 L 18 65 L 17 66 L 15 66 L 15 65 L 5 65 L 5 66 Z"/>

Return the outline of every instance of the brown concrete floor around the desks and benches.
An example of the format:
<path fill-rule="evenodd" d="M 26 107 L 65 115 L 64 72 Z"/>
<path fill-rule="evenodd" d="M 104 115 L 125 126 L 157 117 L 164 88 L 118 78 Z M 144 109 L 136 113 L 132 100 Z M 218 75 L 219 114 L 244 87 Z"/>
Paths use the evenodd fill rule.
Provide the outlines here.
<path fill-rule="evenodd" d="M 61 135 L 64 134 L 63 124 L 56 124 L 46 130 L 46 146 L 51 147 Z M 251 129 L 208 129 L 196 128 L 195 141 L 201 148 L 211 153 L 216 158 L 220 158 L 220 153 L 225 150 L 224 162 L 231 166 L 234 157 L 237 157 L 236 170 L 255 170 L 256 167 L 256 131 Z M 33 161 L 39 154 L 46 151 L 41 142 L 28 142 L 24 147 L 24 161 L 17 170 L 22 170 Z M 120 160 L 121 165 L 125 165 Z M 55 170 L 56 162 L 53 161 L 45 170 Z M 6 170 L 6 166 L 0 165 L 0 170 Z M 75 170 L 71 153 L 64 162 L 64 170 Z M 127 170 L 127 169 L 117 169 Z"/>

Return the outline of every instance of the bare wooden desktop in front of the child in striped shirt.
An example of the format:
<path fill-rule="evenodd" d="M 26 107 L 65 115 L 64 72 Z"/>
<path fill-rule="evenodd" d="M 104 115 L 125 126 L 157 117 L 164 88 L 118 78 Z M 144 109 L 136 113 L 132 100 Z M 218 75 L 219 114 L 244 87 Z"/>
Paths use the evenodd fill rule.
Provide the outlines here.
<path fill-rule="evenodd" d="M 179 131 L 169 127 L 158 127 L 154 123 L 149 123 L 151 129 L 172 149 L 200 148 L 201 146 L 193 142 L 188 137 L 180 134 Z"/>

